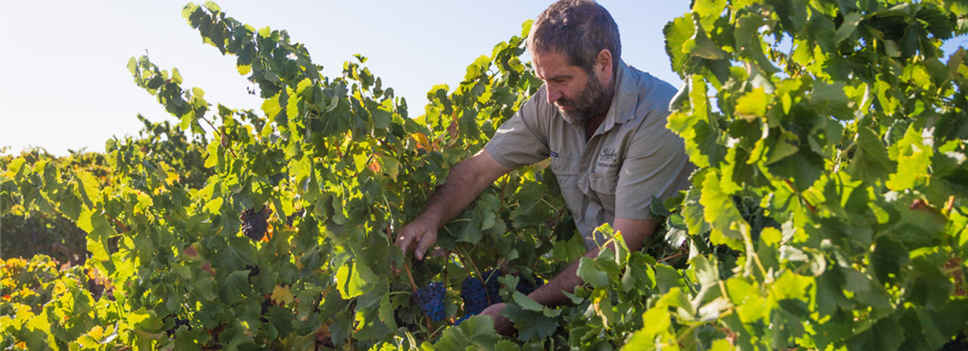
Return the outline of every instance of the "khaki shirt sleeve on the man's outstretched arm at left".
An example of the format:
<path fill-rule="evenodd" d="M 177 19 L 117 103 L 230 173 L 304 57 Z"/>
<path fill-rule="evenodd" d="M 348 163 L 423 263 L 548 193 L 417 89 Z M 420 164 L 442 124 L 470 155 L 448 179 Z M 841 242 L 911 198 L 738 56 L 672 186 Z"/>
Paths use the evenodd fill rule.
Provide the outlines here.
<path fill-rule="evenodd" d="M 518 168 L 548 158 L 548 123 L 539 115 L 542 86 L 518 112 L 500 125 L 485 146 L 501 166 Z"/>

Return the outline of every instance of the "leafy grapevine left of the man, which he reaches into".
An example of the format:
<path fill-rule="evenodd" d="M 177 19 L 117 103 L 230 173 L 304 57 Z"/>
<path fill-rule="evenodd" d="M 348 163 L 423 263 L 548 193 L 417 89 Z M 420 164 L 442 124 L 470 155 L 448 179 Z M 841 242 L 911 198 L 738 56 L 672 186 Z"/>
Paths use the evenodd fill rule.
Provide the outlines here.
<path fill-rule="evenodd" d="M 539 166 L 502 178 L 449 224 L 444 255 L 412 268 L 416 283 L 387 273 L 408 266 L 387 234 L 536 90 L 540 80 L 518 59 L 522 38 L 481 56 L 454 92 L 434 87 L 425 113 L 409 118 L 406 101 L 360 66 L 365 57 L 330 79 L 285 31 L 257 31 L 211 3 L 189 5 L 184 15 L 206 43 L 237 56 L 265 99 L 264 116 L 212 107 L 201 89 L 180 85 L 177 70 L 146 56 L 131 60 L 136 83 L 195 141 L 204 141 L 203 125 L 214 129 L 202 186 L 180 169 L 191 165 L 176 164 L 185 157 L 162 152 L 173 147 L 156 147 L 157 138 L 108 141 L 106 186 L 83 170 L 22 158 L 0 179 L 5 204 L 62 213 L 88 233 L 89 265 L 104 272 L 109 301 L 126 316 L 118 342 L 312 349 L 430 339 L 438 331 L 423 329 L 413 285 L 443 281 L 454 291 L 477 267 L 498 267 L 498 258 L 503 269 L 527 274 L 567 264 L 535 266 L 561 235 L 558 223 L 570 222 Z M 244 237 L 240 214 L 263 207 L 271 213 L 266 235 Z M 445 299 L 449 324 L 460 314 L 458 297 Z"/>

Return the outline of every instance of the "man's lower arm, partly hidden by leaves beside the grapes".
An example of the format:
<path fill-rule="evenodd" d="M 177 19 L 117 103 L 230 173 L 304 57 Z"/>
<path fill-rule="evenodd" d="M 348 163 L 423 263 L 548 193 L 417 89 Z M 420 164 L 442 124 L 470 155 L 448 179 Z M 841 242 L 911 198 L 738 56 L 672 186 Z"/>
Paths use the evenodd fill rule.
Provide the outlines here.
<path fill-rule="evenodd" d="M 645 240 L 655 232 L 655 222 L 649 219 L 628 219 L 616 218 L 612 227 L 621 232 L 621 237 L 625 240 L 625 245 L 629 250 L 638 251 L 642 249 Z M 613 251 L 618 251 L 615 243 L 611 242 L 606 247 L 611 247 Z M 585 254 L 585 257 L 594 258 L 598 256 L 598 248 L 594 248 Z M 561 291 L 573 293 L 575 287 L 584 285 L 585 281 L 578 276 L 578 265 L 580 261 L 575 261 L 567 269 L 561 271 L 557 276 L 541 286 L 528 297 L 537 303 L 548 306 L 556 306 L 568 303 L 568 298 Z M 494 317 L 495 329 L 503 335 L 510 335 L 514 331 L 514 324 L 506 317 L 499 315 L 506 303 L 496 303 L 485 309 L 481 314 Z"/>

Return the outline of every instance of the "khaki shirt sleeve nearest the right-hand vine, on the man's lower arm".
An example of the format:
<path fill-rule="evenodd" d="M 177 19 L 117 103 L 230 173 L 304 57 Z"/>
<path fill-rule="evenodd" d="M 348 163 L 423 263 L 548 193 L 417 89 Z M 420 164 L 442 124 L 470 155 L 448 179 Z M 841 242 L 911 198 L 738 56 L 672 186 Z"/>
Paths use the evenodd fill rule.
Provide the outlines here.
<path fill-rule="evenodd" d="M 689 185 L 694 166 L 682 139 L 667 129 L 669 112 L 650 112 L 627 149 L 616 185 L 615 216 L 649 219 L 652 197 L 664 200 Z"/>

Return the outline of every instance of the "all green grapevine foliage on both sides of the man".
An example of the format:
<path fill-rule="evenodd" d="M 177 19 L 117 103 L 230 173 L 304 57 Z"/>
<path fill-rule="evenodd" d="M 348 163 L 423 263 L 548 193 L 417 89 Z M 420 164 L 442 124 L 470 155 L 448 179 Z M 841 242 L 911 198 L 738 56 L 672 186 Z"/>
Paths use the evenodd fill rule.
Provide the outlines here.
<path fill-rule="evenodd" d="M 519 58 L 529 23 L 411 118 L 365 57 L 327 78 L 286 31 L 189 4 L 204 42 L 256 83 L 261 112 L 213 106 L 142 56 L 129 63 L 136 84 L 197 149 L 108 141 L 104 183 L 44 158 L 7 163 L 3 212 L 69 218 L 91 259 L 5 263 L 15 293 L 0 348 L 938 349 L 968 329 L 968 63 L 938 49 L 968 29 L 966 10 L 696 0 L 666 37 L 687 82 L 669 128 L 701 171 L 653 202 L 664 226 L 645 251 L 603 226 L 617 249 L 581 258 L 539 163 L 501 177 L 435 254 L 410 261 L 391 234 L 541 83 Z M 200 167 L 178 163 L 190 151 Z M 243 235 L 243 213 L 268 216 L 264 234 L 258 222 Z M 579 258 L 587 285 L 571 304 L 516 292 Z M 495 269 L 512 337 L 460 303 L 466 278 Z M 85 276 L 105 294 L 83 290 Z M 411 298 L 432 282 L 444 289 L 436 323 Z"/>

